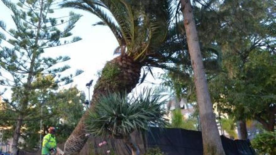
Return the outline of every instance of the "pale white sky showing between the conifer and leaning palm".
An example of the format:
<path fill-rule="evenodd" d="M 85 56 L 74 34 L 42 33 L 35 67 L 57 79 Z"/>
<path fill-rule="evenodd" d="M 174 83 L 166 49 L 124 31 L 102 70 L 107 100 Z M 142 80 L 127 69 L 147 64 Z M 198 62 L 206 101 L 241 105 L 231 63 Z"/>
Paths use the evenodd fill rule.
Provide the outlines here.
<path fill-rule="evenodd" d="M 62 9 L 62 11 L 56 12 L 56 17 L 66 16 L 72 9 Z M 55 10 L 56 11 L 56 10 Z M 85 11 L 73 9 L 75 13 L 80 13 L 83 17 L 77 22 L 76 27 L 72 30 L 74 36 L 80 36 L 81 41 L 65 46 L 59 46 L 49 48 L 46 50 L 46 54 L 51 57 L 57 57 L 60 55 L 68 55 L 71 60 L 66 61 L 66 64 L 72 68 L 68 72 L 74 74 L 76 69 L 84 70 L 84 73 L 74 78 L 72 85 L 77 85 L 79 90 L 86 93 L 88 99 L 88 89 L 85 84 L 90 80 L 94 80 L 90 89 L 90 94 L 93 93 L 93 86 L 97 80 L 97 71 L 104 67 L 106 61 L 113 59 L 114 49 L 118 46 L 118 43 L 107 26 L 92 26 L 93 23 L 100 21 L 99 18 L 91 13 Z M 4 21 L 7 25 L 7 29 L 14 28 L 14 23 L 11 18 L 11 11 L 0 1 L 0 20 Z M 7 36 L 8 37 L 8 36 Z M 2 41 L 3 42 L 3 41 Z M 154 73 L 162 73 L 161 69 L 155 69 Z M 160 80 L 154 80 L 151 75 L 148 75 L 146 81 L 160 83 Z M 67 87 L 72 86 L 71 84 Z M 147 82 L 140 85 L 137 90 L 144 86 L 154 86 Z M 156 86 L 156 85 L 155 85 Z M 3 86 L 0 86 L 0 90 Z M 6 92 L 4 97 L 8 97 L 10 92 Z"/>

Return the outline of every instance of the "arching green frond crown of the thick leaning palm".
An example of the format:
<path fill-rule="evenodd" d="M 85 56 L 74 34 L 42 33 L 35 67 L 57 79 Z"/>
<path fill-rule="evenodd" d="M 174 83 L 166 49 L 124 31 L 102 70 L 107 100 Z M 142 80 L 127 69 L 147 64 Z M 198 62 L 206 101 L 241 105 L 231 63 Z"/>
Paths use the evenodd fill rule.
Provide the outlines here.
<path fill-rule="evenodd" d="M 170 1 L 72 0 L 61 6 L 96 15 L 102 21 L 94 25 L 109 26 L 117 39 L 119 47 L 115 53 L 126 53 L 141 62 L 165 41 L 171 23 Z"/>

